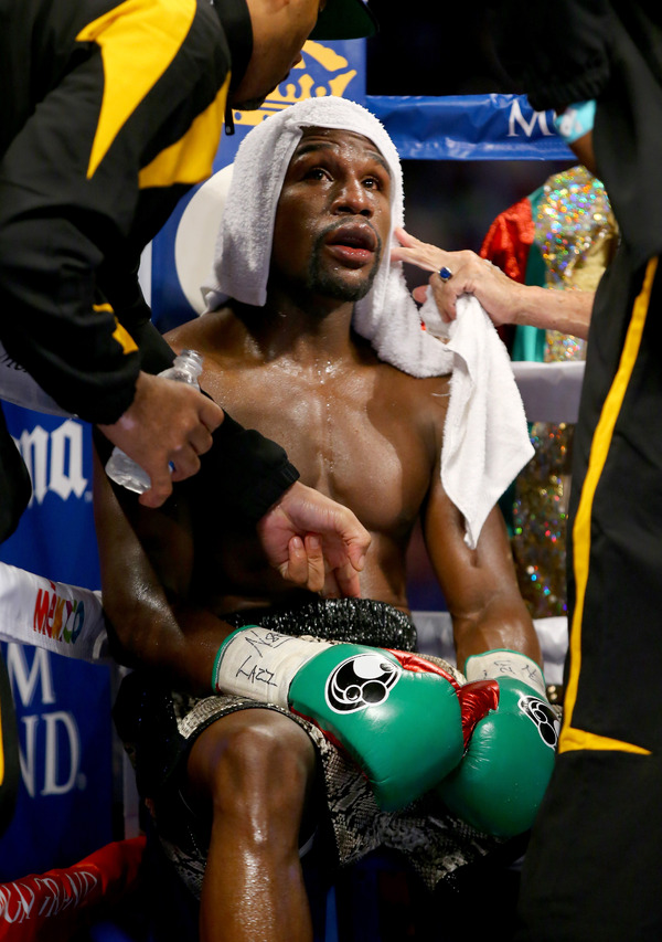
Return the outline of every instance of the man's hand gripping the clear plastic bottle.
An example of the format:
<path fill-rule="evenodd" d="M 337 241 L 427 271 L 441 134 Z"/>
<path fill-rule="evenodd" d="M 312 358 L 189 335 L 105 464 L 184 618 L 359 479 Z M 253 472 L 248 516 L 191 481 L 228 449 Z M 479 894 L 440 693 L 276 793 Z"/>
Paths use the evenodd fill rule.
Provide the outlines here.
<path fill-rule="evenodd" d="M 222 422 L 223 410 L 193 387 L 140 373 L 131 405 L 113 425 L 98 427 L 148 473 L 152 486 L 140 504 L 160 507 L 173 480 L 200 469 L 199 455 L 211 448 L 212 432 Z"/>

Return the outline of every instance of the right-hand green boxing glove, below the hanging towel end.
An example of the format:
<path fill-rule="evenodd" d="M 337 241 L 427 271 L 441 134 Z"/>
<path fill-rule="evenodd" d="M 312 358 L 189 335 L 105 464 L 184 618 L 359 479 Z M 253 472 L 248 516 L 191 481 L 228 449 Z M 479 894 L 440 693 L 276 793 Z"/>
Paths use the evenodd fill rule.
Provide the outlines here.
<path fill-rule="evenodd" d="M 436 791 L 479 830 L 514 837 L 532 826 L 552 775 L 559 718 L 545 696 L 540 667 L 517 652 L 491 650 L 467 661 L 462 762 Z M 472 708 L 472 688 L 490 685 L 492 708 Z"/>

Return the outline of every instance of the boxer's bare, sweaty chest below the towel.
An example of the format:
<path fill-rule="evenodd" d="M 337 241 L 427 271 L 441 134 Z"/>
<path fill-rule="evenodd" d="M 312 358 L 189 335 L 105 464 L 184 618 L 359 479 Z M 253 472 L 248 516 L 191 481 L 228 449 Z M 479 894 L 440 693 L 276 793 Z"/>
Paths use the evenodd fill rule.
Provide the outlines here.
<path fill-rule="evenodd" d="M 214 371 L 203 387 L 243 425 L 278 442 L 305 484 L 348 505 L 374 532 L 408 530 L 435 459 L 425 403 L 393 370 Z"/>

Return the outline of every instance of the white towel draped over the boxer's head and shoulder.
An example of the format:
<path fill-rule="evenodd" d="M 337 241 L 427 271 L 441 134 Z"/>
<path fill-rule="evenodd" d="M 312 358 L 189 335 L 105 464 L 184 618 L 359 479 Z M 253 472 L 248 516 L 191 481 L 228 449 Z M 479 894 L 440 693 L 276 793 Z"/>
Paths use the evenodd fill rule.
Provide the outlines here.
<path fill-rule="evenodd" d="M 434 301 L 419 311 L 402 263 L 391 263 L 393 229 L 404 225 L 403 176 L 393 141 L 374 115 L 346 98 L 307 98 L 246 135 L 234 161 L 213 273 L 202 288 L 207 309 L 231 297 L 257 307 L 266 303 L 276 208 L 306 127 L 361 134 L 388 165 L 391 239 L 369 294 L 355 306 L 353 326 L 382 360 L 403 372 L 419 378 L 452 373 L 441 481 L 465 516 L 466 541 L 474 548 L 491 508 L 533 455 L 524 408 L 505 348 L 479 303 L 462 299 L 448 329 Z M 449 342 L 440 336 L 450 337 Z"/>

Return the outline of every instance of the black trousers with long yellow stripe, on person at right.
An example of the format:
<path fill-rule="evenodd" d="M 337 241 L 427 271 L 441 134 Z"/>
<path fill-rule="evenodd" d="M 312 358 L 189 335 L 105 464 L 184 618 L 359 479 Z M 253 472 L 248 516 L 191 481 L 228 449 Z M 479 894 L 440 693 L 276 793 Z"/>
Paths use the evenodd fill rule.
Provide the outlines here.
<path fill-rule="evenodd" d="M 591 320 L 568 531 L 570 645 L 521 940 L 662 939 L 662 267 L 621 247 Z"/>

